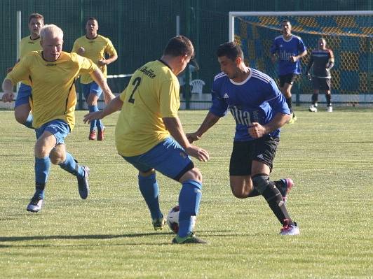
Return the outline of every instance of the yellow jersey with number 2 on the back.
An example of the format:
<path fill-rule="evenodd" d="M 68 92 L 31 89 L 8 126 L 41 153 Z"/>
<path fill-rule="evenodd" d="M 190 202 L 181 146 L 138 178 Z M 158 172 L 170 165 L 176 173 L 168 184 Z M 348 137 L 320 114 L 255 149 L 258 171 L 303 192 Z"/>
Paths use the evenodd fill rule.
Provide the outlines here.
<path fill-rule="evenodd" d="M 119 155 L 141 155 L 170 136 L 162 118 L 177 117 L 179 87 L 177 77 L 161 60 L 133 73 L 120 95 L 123 106 L 115 129 Z"/>

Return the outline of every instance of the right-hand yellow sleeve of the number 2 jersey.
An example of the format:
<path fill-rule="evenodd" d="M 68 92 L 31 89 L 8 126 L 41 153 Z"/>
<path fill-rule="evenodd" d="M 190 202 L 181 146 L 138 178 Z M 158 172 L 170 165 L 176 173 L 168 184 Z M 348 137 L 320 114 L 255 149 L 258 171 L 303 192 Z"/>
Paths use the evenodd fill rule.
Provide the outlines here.
<path fill-rule="evenodd" d="M 158 93 L 161 117 L 177 117 L 177 110 L 180 106 L 177 80 L 163 81 Z"/>

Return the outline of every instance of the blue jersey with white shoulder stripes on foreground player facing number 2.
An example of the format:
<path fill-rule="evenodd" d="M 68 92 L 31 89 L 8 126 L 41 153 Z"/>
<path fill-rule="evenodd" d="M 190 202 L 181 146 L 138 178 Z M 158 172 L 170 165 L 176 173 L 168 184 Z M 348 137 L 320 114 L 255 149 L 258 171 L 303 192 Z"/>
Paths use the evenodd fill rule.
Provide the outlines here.
<path fill-rule="evenodd" d="M 230 80 L 225 73 L 219 73 L 212 85 L 212 106 L 210 113 L 222 117 L 231 110 L 236 120 L 234 141 L 252 141 L 248 127 L 252 122 L 266 124 L 277 113 L 290 114 L 285 97 L 275 81 L 265 73 L 250 69 L 250 74 L 242 83 Z M 280 136 L 280 129 L 270 136 Z"/>

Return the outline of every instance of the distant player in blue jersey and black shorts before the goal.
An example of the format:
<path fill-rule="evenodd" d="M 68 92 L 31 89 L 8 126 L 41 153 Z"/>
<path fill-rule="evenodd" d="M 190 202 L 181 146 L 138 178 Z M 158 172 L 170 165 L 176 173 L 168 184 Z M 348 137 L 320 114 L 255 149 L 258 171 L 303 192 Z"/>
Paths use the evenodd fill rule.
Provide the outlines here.
<path fill-rule="evenodd" d="M 294 80 L 301 73 L 301 57 L 307 55 L 306 46 L 301 37 L 292 34 L 292 24 L 289 20 L 283 20 L 281 23 L 283 35 L 277 36 L 271 46 L 271 59 L 276 62 L 278 57 L 278 78 L 280 78 L 280 90 L 286 98 L 287 106 L 292 113 L 289 123 L 297 120 L 292 110 L 292 85 Z"/>

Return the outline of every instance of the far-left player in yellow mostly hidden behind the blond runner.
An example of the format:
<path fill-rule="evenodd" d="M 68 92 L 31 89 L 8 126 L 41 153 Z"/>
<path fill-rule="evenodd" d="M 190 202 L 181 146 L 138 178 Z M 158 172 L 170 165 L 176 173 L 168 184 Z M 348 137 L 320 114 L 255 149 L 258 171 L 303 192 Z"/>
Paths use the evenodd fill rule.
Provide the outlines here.
<path fill-rule="evenodd" d="M 44 25 L 44 17 L 39 13 L 32 13 L 29 15 L 29 36 L 22 38 L 20 41 L 20 59 L 25 57 L 27 53 L 34 50 L 41 50 L 40 45 L 40 29 Z M 19 62 L 20 60 L 18 60 Z M 11 71 L 11 69 L 9 69 Z M 20 88 L 18 89 L 17 98 L 14 105 L 15 120 L 26 127 L 32 128 L 32 114 L 29 104 L 29 97 L 31 96 L 31 83 L 28 79 L 22 80 Z M 3 101 L 13 100 L 13 95 L 3 96 Z"/>

